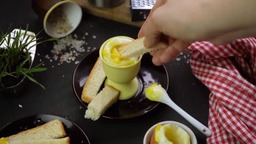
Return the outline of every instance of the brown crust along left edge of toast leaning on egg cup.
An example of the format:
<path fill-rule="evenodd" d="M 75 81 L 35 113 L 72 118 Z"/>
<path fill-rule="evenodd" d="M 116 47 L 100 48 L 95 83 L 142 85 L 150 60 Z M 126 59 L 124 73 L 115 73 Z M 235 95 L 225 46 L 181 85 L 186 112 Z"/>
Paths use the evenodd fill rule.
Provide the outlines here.
<path fill-rule="evenodd" d="M 89 95 L 86 94 L 86 89 L 87 89 L 88 85 L 91 83 L 92 75 L 96 71 L 96 67 L 99 65 L 100 62 L 101 62 L 101 59 L 98 58 L 96 63 L 93 66 L 93 69 L 91 70 L 91 72 L 90 72 L 90 74 L 88 76 L 87 81 L 85 82 L 85 85 L 83 86 L 82 100 L 85 101 L 86 103 L 90 103 L 91 100 L 93 99 L 92 96 L 89 96 Z"/>

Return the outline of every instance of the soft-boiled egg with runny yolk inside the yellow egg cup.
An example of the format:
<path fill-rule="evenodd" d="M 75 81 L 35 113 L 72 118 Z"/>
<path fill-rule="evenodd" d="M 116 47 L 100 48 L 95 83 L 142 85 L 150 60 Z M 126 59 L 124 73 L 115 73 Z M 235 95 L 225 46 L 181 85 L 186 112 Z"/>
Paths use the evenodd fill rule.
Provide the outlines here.
<path fill-rule="evenodd" d="M 134 64 L 138 61 L 138 57 L 131 57 L 131 58 L 122 58 L 121 55 L 118 53 L 117 48 L 125 43 L 130 43 L 133 40 L 125 38 L 125 37 L 115 37 L 105 45 L 102 56 L 105 61 L 109 64 L 118 67 L 124 67 L 131 64 Z"/>

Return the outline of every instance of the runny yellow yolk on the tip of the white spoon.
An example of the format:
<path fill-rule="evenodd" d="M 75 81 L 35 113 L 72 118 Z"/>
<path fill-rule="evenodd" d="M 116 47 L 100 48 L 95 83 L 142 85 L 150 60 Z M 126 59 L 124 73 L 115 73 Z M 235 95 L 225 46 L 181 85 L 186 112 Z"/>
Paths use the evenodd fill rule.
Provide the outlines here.
<path fill-rule="evenodd" d="M 146 89 L 145 95 L 151 101 L 160 101 L 160 98 L 161 96 L 163 96 L 164 91 L 165 90 L 162 88 L 161 85 L 154 83 Z"/>

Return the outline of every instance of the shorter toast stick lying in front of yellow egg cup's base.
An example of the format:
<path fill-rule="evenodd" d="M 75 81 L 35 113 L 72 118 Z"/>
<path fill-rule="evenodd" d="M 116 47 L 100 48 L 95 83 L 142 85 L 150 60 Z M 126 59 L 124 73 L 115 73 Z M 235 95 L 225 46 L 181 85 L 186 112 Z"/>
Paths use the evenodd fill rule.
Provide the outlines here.
<path fill-rule="evenodd" d="M 88 104 L 85 118 L 98 120 L 99 117 L 118 100 L 118 96 L 119 91 L 107 85 L 95 96 L 91 103 Z"/>

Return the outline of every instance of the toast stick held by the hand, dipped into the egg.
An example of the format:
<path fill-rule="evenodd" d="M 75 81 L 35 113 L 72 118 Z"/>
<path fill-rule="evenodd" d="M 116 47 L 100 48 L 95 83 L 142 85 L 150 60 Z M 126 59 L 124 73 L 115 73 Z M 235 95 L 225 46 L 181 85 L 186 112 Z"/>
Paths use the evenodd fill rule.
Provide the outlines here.
<path fill-rule="evenodd" d="M 117 51 L 120 53 L 122 57 L 136 57 L 136 56 L 141 56 L 144 53 L 148 53 L 151 51 L 158 50 L 160 48 L 167 47 L 166 43 L 159 42 L 152 48 L 145 48 L 143 41 L 144 41 L 144 37 L 138 38 L 132 41 L 131 43 L 121 45 L 120 48 L 117 49 Z"/>

